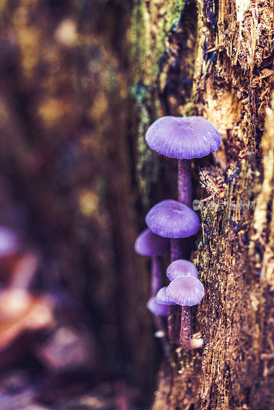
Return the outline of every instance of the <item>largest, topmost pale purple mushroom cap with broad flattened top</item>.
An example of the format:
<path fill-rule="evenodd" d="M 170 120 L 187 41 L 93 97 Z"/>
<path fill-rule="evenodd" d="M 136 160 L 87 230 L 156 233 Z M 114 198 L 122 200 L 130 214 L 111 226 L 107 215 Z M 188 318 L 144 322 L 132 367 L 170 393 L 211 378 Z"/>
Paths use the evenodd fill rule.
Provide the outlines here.
<path fill-rule="evenodd" d="M 149 147 L 170 158 L 201 158 L 219 150 L 222 136 L 203 117 L 165 116 L 157 119 L 146 132 Z"/>

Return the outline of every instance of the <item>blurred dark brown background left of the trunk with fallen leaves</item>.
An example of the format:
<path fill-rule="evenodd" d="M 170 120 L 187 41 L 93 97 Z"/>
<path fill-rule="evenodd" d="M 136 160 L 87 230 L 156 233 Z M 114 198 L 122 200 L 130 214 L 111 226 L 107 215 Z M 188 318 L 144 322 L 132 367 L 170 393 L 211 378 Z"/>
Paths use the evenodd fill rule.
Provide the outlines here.
<path fill-rule="evenodd" d="M 0 2 L 1 410 L 127 410 L 153 395 L 130 8 Z"/>

